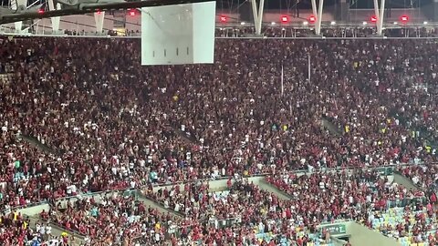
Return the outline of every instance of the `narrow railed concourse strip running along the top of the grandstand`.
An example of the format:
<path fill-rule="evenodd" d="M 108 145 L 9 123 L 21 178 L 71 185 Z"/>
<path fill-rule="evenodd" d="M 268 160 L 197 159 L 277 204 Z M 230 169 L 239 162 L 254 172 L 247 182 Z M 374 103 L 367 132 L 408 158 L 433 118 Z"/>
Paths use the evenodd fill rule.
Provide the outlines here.
<path fill-rule="evenodd" d="M 40 26 L 38 22 L 34 24 L 37 28 L 31 28 L 32 33 L 16 33 L 12 26 L 0 26 L 0 35 L 3 36 L 51 36 L 51 37 L 92 37 L 92 38 L 141 38 L 141 32 L 137 31 L 120 31 L 120 30 L 105 30 L 102 34 L 96 32 L 86 32 L 77 30 L 63 30 L 64 34 L 51 34 L 51 27 Z M 387 25 L 384 26 L 384 35 L 375 36 L 374 26 L 322 26 L 322 34 L 334 30 L 336 35 L 328 34 L 328 36 L 314 36 L 313 26 L 269 26 L 266 25 L 262 33 L 267 36 L 255 36 L 251 30 L 252 26 L 216 26 L 216 39 L 221 38 L 295 38 L 295 39 L 352 39 L 352 38 L 397 38 L 397 39 L 419 39 L 419 38 L 438 38 L 438 33 L 429 32 L 427 30 L 438 29 L 438 23 L 427 24 L 422 26 L 414 25 Z M 249 30 L 248 30 L 249 29 Z M 47 31 L 45 31 L 47 30 Z M 403 30 L 403 34 L 393 34 L 391 31 Z M 269 37 L 269 33 L 275 31 L 275 37 Z M 365 32 L 364 32 L 365 31 Z M 389 32 L 389 33 L 387 33 Z M 413 35 L 415 34 L 415 35 Z"/>

